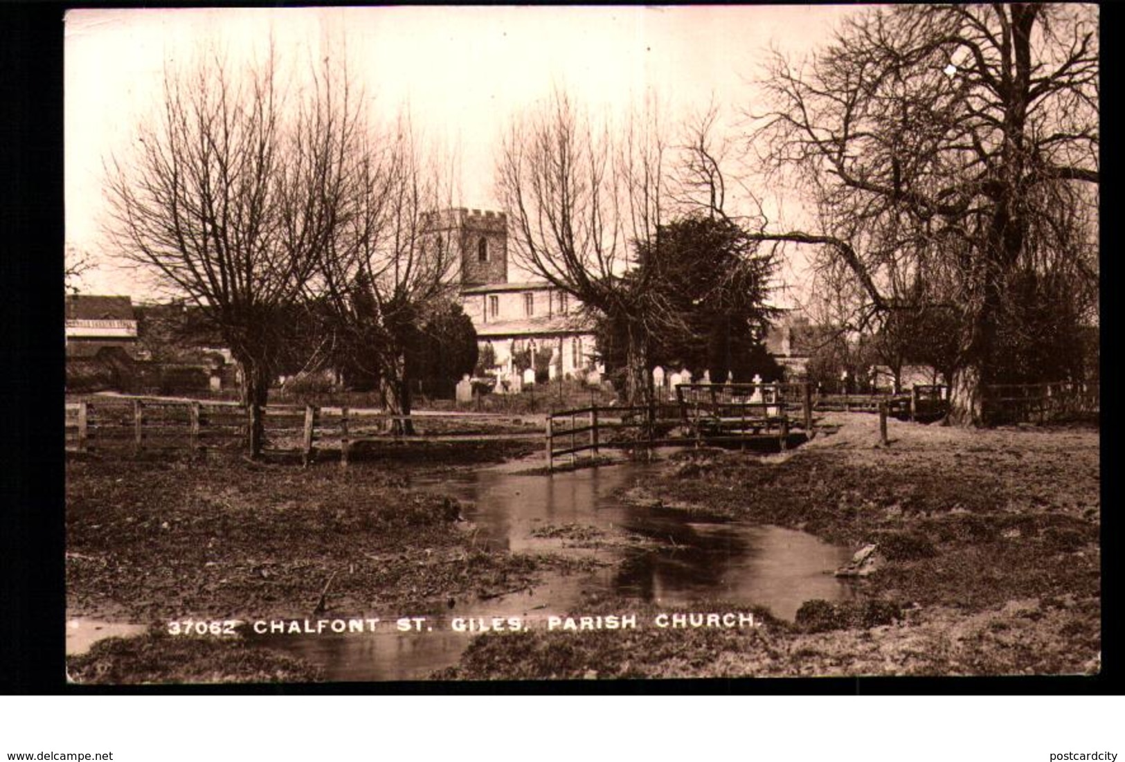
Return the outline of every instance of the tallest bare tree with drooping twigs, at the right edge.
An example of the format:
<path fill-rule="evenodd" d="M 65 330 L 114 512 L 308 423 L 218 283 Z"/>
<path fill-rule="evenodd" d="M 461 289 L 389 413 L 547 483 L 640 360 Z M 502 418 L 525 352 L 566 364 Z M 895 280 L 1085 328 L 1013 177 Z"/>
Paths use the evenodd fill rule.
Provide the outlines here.
<path fill-rule="evenodd" d="M 759 238 L 821 244 L 871 311 L 918 308 L 908 292 L 957 310 L 953 417 L 980 423 L 1014 283 L 1096 291 L 1098 74 L 1092 6 L 866 11 L 800 65 L 776 55 L 760 83 L 752 142 L 819 227 Z"/>

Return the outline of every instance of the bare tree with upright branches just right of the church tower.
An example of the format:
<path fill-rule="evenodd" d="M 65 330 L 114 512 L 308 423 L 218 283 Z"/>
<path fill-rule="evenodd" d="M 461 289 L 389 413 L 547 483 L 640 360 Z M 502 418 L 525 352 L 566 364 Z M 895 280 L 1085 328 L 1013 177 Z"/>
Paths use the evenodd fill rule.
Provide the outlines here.
<path fill-rule="evenodd" d="M 632 403 L 652 398 L 650 338 L 684 328 L 648 274 L 623 278 L 667 211 L 668 147 L 652 101 L 612 130 L 556 90 L 512 120 L 497 162 L 513 260 L 624 326 Z"/>

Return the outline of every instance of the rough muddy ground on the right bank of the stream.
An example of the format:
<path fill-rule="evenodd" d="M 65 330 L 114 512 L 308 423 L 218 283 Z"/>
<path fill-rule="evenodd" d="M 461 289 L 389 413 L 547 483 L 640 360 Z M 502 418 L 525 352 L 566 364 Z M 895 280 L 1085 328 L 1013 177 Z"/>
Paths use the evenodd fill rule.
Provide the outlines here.
<path fill-rule="evenodd" d="M 838 433 L 759 457 L 670 459 L 642 505 L 875 544 L 848 604 L 753 629 L 477 638 L 450 679 L 1091 674 L 1100 669 L 1096 427 L 968 430 L 838 414 Z M 701 601 L 700 610 L 737 610 Z M 638 610 L 591 600 L 580 613 Z M 641 619 L 646 618 L 640 611 Z"/>

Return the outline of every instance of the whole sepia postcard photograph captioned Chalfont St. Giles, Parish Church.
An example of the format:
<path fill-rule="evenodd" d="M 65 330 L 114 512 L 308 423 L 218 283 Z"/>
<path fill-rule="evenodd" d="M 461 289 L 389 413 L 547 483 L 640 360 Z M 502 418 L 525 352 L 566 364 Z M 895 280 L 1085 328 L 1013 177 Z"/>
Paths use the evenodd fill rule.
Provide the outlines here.
<path fill-rule="evenodd" d="M 60 31 L 68 683 L 1100 673 L 1097 6 Z"/>

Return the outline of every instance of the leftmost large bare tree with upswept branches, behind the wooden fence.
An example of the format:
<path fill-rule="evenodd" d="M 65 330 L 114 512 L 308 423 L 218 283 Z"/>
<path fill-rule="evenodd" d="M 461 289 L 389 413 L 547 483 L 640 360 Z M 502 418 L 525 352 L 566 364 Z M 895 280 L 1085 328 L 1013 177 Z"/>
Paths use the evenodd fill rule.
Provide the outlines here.
<path fill-rule="evenodd" d="M 349 223 L 362 128 L 359 99 L 327 58 L 305 87 L 282 82 L 272 46 L 244 65 L 210 49 L 186 69 L 166 66 L 163 100 L 134 151 L 107 161 L 117 253 L 222 334 L 241 369 L 253 456 L 292 308 Z"/>

